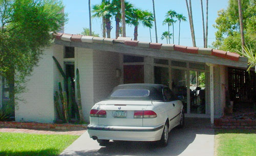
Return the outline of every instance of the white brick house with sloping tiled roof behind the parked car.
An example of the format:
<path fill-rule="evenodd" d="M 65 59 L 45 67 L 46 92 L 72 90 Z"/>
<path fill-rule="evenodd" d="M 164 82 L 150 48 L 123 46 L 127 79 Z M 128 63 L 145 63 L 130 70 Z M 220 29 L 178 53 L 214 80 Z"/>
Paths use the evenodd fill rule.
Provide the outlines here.
<path fill-rule="evenodd" d="M 98 102 L 123 83 L 158 83 L 169 86 L 183 101 L 186 117 L 220 118 L 226 102 L 228 67 L 247 67 L 238 54 L 211 48 L 54 34 L 54 44 L 35 67 L 28 91 L 22 94 L 16 121 L 53 122 L 54 92 L 63 82 L 53 56 L 66 74 L 80 72 L 82 111 L 87 121 Z M 76 86 L 75 86 L 76 88 Z"/>

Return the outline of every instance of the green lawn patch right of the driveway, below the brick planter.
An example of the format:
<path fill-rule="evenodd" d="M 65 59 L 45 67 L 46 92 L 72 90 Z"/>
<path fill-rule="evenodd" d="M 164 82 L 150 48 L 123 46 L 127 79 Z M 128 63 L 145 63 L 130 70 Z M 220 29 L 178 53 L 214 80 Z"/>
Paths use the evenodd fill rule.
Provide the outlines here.
<path fill-rule="evenodd" d="M 222 129 L 215 134 L 215 155 L 256 155 L 255 130 Z"/>

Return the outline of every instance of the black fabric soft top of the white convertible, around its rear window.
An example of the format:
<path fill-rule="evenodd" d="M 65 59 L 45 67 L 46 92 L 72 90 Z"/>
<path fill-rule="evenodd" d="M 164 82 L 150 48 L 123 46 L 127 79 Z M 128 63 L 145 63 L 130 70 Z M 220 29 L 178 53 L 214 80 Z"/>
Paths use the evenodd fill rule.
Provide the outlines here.
<path fill-rule="evenodd" d="M 113 89 L 110 96 L 107 99 L 127 99 L 127 100 L 160 100 L 163 101 L 163 94 L 162 89 L 167 86 L 159 85 L 159 84 L 123 84 L 118 85 Z M 136 96 L 136 97 L 129 97 L 129 96 L 122 96 L 122 97 L 113 97 L 111 96 L 117 90 L 123 89 L 146 89 L 150 91 L 148 96 Z"/>

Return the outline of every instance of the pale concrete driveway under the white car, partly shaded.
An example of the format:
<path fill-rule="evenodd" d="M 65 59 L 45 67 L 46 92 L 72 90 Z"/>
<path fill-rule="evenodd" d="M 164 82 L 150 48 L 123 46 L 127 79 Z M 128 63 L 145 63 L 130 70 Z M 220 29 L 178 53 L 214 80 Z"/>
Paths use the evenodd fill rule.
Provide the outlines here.
<path fill-rule="evenodd" d="M 60 155 L 214 155 L 214 129 L 209 119 L 186 118 L 182 129 L 174 128 L 166 147 L 152 142 L 110 142 L 99 146 L 86 132 Z"/>

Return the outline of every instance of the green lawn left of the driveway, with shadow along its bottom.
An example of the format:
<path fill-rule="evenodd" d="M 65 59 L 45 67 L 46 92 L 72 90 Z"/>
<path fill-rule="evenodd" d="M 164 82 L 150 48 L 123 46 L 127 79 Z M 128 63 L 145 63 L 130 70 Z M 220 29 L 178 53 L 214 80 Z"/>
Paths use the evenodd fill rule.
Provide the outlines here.
<path fill-rule="evenodd" d="M 0 155 L 59 155 L 78 137 L 0 133 Z"/>

